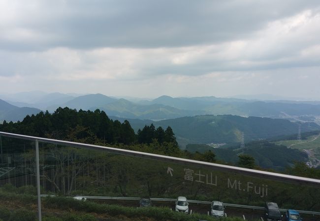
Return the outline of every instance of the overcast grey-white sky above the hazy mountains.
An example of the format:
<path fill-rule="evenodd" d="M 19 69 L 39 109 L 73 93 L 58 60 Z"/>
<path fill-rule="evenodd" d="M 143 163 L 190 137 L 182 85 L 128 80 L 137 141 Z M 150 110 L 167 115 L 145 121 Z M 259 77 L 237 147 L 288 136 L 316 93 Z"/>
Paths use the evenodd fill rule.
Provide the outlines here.
<path fill-rule="evenodd" d="M 319 0 L 0 0 L 0 93 L 320 100 Z"/>

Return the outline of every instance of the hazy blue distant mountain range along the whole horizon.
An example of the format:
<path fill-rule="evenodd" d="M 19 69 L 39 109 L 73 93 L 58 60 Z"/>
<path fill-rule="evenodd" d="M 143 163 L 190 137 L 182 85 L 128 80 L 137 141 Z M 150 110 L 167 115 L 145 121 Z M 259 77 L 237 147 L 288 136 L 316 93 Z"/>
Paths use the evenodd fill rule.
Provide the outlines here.
<path fill-rule="evenodd" d="M 19 96 L 20 99 L 18 99 Z M 232 114 L 284 118 L 291 121 L 306 122 L 316 121 L 311 116 L 320 116 L 320 102 L 317 101 L 254 101 L 238 98 L 217 98 L 214 96 L 191 98 L 160 96 L 154 100 L 134 100 L 135 102 L 132 102 L 103 94 L 71 95 L 43 92 L 0 95 L 0 99 L 16 107 L 36 108 L 43 111 L 48 110 L 49 112 L 53 112 L 59 107 L 77 110 L 100 109 L 108 115 L 131 119 L 161 120 L 205 114 Z M 33 102 L 26 103 L 27 101 Z"/>

